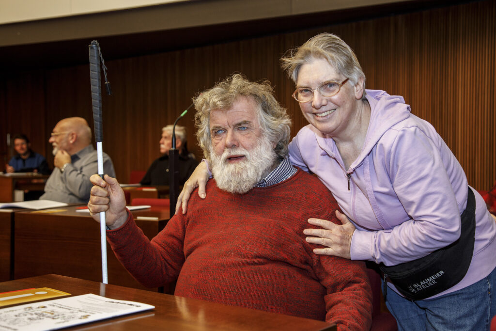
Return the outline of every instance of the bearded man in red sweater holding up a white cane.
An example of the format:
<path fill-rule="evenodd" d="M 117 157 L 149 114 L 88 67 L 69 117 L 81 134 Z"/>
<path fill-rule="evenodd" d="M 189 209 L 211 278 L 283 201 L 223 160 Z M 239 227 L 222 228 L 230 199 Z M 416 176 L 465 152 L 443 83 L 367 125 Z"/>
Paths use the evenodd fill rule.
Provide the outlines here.
<path fill-rule="evenodd" d="M 369 330 L 363 263 L 313 254 L 317 246 L 305 241 L 309 217 L 338 222 L 337 203 L 317 178 L 290 164 L 291 121 L 268 82 L 236 74 L 193 101 L 214 181 L 206 199 L 192 195 L 187 213 L 151 242 L 125 209 L 119 183 L 91 177 L 88 207 L 97 221 L 107 212 L 107 238 L 121 263 L 145 286 L 177 280 L 179 296 Z"/>

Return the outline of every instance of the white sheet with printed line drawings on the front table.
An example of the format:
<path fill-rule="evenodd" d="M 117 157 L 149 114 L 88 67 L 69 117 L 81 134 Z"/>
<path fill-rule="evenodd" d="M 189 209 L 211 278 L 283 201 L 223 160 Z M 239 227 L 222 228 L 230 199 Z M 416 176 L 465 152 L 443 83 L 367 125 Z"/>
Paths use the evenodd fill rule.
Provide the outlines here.
<path fill-rule="evenodd" d="M 34 302 L 0 309 L 1 331 L 45 331 L 100 321 L 155 308 L 96 294 Z"/>

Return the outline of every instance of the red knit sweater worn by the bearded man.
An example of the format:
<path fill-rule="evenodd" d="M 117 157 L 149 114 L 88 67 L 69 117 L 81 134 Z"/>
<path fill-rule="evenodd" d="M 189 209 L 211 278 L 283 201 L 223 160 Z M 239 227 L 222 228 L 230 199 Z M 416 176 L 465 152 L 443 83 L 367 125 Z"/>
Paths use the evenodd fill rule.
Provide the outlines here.
<path fill-rule="evenodd" d="M 364 264 L 312 253 L 303 229 L 310 217 L 339 223 L 335 199 L 315 177 L 290 179 L 247 194 L 207 185 L 191 195 L 150 241 L 132 216 L 108 241 L 127 270 L 145 286 L 177 279 L 176 295 L 369 330 L 371 289 Z M 130 213 L 129 213 L 130 215 Z"/>

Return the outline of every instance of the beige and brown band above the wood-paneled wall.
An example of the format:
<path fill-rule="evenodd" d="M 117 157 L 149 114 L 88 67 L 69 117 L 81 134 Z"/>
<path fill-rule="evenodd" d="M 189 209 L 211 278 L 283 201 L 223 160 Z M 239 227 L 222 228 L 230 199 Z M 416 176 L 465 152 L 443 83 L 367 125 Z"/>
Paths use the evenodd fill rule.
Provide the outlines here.
<path fill-rule="evenodd" d="M 396 2 L 423 1 L 1 0 L 0 47 L 184 29 Z M 138 3 L 148 5 L 137 7 Z M 119 10 L 130 7 L 134 8 Z"/>

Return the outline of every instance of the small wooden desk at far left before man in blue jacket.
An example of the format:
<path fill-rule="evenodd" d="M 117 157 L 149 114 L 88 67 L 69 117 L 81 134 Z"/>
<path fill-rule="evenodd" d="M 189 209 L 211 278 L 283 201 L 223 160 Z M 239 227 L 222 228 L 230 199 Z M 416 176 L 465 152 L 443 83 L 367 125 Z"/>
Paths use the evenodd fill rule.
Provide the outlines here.
<path fill-rule="evenodd" d="M 14 201 L 14 190 L 43 191 L 48 177 L 34 172 L 0 175 L 0 202 Z"/>

